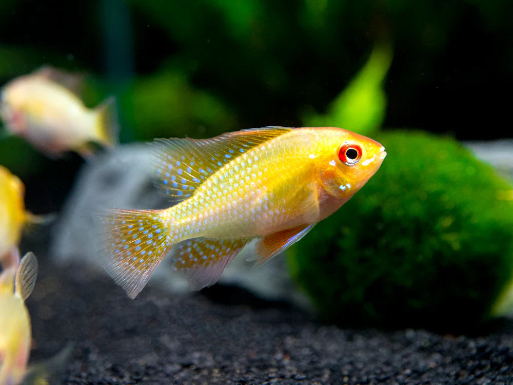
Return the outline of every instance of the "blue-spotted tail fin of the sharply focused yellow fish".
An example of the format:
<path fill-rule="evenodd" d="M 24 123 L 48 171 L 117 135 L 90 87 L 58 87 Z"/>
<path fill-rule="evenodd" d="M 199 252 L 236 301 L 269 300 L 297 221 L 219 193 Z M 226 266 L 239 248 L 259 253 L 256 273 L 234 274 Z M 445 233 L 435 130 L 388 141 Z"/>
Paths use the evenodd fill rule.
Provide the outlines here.
<path fill-rule="evenodd" d="M 102 217 L 102 263 L 130 298 L 143 290 L 171 248 L 163 210 L 110 209 Z"/>

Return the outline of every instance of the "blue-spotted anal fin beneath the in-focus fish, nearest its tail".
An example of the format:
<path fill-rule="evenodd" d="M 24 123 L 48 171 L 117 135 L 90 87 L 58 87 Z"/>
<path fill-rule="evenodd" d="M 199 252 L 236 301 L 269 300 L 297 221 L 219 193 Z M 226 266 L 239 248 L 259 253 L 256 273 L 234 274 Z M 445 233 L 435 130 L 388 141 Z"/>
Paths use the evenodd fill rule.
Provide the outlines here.
<path fill-rule="evenodd" d="M 174 268 L 185 273 L 193 290 L 200 290 L 217 282 L 226 266 L 249 241 L 247 238 L 194 238 L 180 242 L 174 254 Z"/>

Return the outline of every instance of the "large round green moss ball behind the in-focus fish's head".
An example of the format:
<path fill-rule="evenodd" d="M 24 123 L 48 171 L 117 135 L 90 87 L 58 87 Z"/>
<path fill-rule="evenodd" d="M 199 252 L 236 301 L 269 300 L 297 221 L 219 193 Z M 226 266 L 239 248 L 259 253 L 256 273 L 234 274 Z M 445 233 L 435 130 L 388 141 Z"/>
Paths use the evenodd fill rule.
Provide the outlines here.
<path fill-rule="evenodd" d="M 466 328 L 513 275 L 512 187 L 459 143 L 382 132 L 377 174 L 288 253 L 329 321 Z"/>

